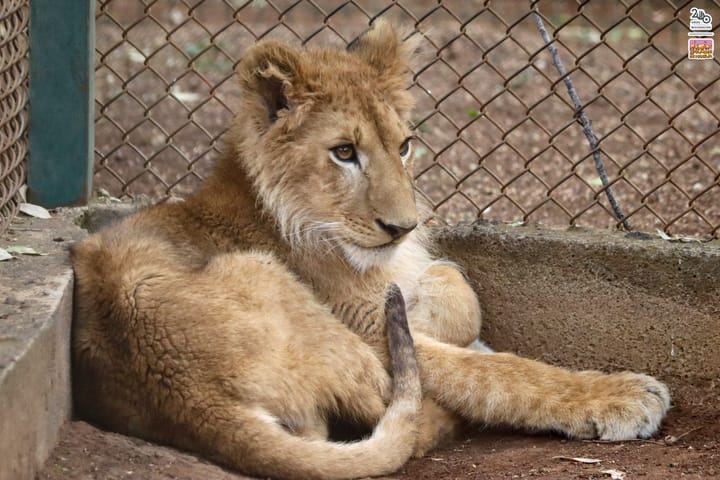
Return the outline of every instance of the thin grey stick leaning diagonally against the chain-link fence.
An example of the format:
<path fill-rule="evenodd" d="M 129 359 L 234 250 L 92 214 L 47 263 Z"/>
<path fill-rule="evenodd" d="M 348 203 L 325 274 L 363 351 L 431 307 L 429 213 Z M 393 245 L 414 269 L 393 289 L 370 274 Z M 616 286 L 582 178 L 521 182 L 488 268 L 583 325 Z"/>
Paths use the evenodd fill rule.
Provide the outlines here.
<path fill-rule="evenodd" d="M 585 115 L 585 112 L 583 111 L 583 105 L 580 102 L 580 97 L 578 97 L 577 91 L 575 90 L 575 87 L 572 84 L 572 80 L 570 80 L 570 76 L 567 74 L 567 71 L 565 70 L 565 66 L 562 63 L 562 60 L 560 60 L 560 54 L 558 53 L 557 48 L 555 48 L 555 45 L 552 43 L 552 40 L 550 39 L 550 35 L 547 33 L 547 30 L 545 29 L 545 23 L 542 21 L 542 17 L 540 17 L 540 14 L 537 9 L 537 5 L 534 9 L 535 14 L 535 23 L 537 23 L 538 30 L 540 30 L 540 35 L 542 35 L 543 41 L 545 42 L 545 45 L 547 46 L 548 51 L 550 52 L 550 55 L 553 59 L 553 64 L 555 64 L 555 68 L 557 68 L 558 72 L 560 73 L 560 77 L 562 78 L 563 82 L 565 83 L 565 86 L 567 87 L 568 94 L 570 95 L 570 98 L 573 101 L 573 105 L 575 107 L 575 114 L 578 117 L 578 121 L 580 122 L 580 125 L 582 125 L 583 133 L 588 139 L 588 142 L 590 143 L 590 149 L 592 150 L 592 156 L 593 160 L 595 162 L 595 168 L 598 171 L 598 175 L 600 176 L 600 181 L 603 184 L 603 188 L 605 189 L 605 195 L 607 195 L 608 201 L 610 202 L 610 206 L 613 209 L 613 213 L 615 213 L 615 217 L 622 222 L 623 227 L 625 227 L 626 230 L 632 230 L 632 227 L 630 226 L 630 222 L 628 221 L 627 217 L 622 211 L 622 208 L 620 208 L 620 204 L 618 203 L 617 199 L 615 198 L 615 195 L 613 194 L 612 187 L 610 186 L 610 180 L 608 179 L 607 170 L 605 170 L 605 164 L 602 161 L 602 158 L 600 158 L 600 152 L 598 151 L 598 141 L 597 137 L 595 136 L 595 133 L 592 130 L 592 124 L 590 122 L 590 119 Z"/>

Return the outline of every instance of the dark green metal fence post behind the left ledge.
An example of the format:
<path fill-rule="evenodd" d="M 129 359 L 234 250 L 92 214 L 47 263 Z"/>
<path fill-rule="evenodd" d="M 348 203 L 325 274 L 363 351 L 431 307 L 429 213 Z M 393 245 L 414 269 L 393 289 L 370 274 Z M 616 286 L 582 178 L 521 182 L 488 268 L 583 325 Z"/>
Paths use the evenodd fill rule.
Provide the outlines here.
<path fill-rule="evenodd" d="M 86 203 L 93 165 L 95 0 L 30 2 L 28 200 Z"/>

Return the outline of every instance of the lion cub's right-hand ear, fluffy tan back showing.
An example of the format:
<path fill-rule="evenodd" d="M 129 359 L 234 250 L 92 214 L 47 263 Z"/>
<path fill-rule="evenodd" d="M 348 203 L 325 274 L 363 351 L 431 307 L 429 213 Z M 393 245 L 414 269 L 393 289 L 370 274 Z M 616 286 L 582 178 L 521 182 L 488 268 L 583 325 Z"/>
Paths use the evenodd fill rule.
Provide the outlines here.
<path fill-rule="evenodd" d="M 365 63 L 383 75 L 405 77 L 412 67 L 418 40 L 403 40 L 402 32 L 383 19 L 353 40 L 348 52 L 357 55 Z"/>

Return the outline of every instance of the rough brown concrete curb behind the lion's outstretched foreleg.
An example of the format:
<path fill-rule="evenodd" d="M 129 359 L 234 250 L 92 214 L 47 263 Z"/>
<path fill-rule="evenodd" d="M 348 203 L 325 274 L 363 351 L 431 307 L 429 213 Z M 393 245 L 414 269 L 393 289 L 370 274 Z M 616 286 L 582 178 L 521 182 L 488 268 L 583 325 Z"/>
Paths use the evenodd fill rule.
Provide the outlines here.
<path fill-rule="evenodd" d="M 720 242 L 476 223 L 438 231 L 496 350 L 658 376 L 685 406 L 720 409 Z"/>

